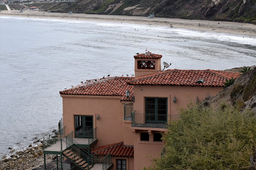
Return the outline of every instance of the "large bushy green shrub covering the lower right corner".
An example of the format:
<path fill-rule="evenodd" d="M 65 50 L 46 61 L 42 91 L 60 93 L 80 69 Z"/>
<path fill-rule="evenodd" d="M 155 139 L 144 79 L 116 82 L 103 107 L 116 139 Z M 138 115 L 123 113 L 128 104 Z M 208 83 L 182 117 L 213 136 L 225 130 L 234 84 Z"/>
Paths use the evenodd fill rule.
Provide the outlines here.
<path fill-rule="evenodd" d="M 168 133 L 163 135 L 163 155 L 154 158 L 149 169 L 250 168 L 256 147 L 253 113 L 190 105 L 180 116 L 179 121 L 170 122 Z"/>

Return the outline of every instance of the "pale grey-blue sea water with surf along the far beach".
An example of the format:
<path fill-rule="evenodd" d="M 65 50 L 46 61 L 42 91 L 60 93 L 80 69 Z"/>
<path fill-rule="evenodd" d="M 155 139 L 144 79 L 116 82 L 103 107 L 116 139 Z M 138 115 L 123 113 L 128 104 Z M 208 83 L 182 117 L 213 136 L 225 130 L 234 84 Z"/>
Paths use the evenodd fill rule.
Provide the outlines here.
<path fill-rule="evenodd" d="M 87 79 L 134 74 L 136 53 L 168 69 L 256 64 L 256 38 L 124 22 L 0 16 L 0 158 L 58 128 L 59 91 Z"/>

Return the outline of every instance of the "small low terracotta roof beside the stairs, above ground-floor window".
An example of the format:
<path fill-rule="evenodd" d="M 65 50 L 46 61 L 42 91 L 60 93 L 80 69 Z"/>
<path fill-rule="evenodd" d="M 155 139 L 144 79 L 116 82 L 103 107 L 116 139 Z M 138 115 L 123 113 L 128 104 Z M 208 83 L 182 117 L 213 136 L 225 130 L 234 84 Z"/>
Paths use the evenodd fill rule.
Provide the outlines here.
<path fill-rule="evenodd" d="M 125 146 L 123 142 L 100 146 L 97 150 L 93 151 L 93 154 L 107 155 L 111 153 L 111 156 L 133 157 L 133 146 Z"/>

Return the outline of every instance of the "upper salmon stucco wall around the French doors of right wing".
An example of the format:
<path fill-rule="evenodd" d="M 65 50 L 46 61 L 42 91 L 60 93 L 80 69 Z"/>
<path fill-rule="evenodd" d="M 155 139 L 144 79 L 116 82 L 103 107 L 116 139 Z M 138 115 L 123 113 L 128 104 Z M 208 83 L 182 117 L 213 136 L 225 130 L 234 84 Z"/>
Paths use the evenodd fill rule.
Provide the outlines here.
<path fill-rule="evenodd" d="M 136 113 L 145 113 L 145 97 L 166 97 L 167 114 L 177 115 L 179 107 L 186 107 L 188 103 L 199 102 L 210 94 L 216 95 L 222 87 L 191 87 L 191 86 L 161 86 L 161 85 L 134 85 L 135 103 L 133 104 Z M 173 98 L 176 103 L 173 103 Z"/>

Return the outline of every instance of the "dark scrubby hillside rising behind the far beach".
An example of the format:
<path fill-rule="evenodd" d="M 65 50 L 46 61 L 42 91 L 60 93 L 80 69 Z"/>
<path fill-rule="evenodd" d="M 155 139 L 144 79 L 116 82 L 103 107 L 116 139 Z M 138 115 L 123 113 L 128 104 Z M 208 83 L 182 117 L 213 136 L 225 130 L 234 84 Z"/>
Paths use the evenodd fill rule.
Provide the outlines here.
<path fill-rule="evenodd" d="M 256 0 L 78 0 L 54 7 L 48 10 L 256 23 Z"/>

